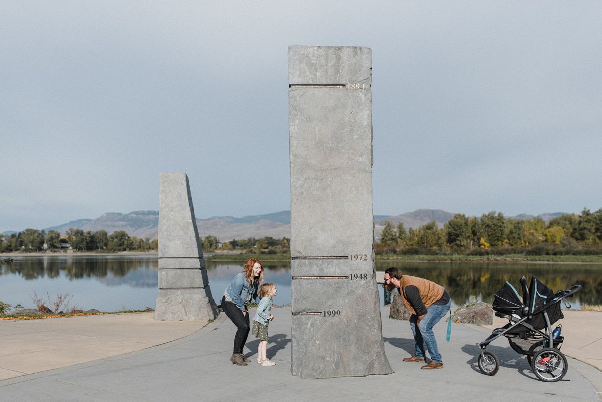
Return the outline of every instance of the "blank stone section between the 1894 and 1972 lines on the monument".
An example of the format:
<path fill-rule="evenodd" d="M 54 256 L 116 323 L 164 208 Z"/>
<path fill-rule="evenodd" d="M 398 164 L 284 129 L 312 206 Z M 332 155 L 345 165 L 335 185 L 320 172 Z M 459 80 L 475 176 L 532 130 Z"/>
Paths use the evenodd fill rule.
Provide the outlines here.
<path fill-rule="evenodd" d="M 370 254 L 370 91 L 291 87 L 289 95 L 291 257 Z"/>

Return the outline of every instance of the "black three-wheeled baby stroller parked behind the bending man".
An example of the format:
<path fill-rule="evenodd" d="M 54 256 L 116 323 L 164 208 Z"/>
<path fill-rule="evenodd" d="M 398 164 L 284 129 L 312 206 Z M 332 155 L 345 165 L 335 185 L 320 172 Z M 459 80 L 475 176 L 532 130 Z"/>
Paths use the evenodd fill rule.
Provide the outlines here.
<path fill-rule="evenodd" d="M 525 354 L 527 362 L 533 369 L 533 374 L 544 382 L 557 382 L 568 371 L 566 357 L 560 352 L 564 340 L 560 336 L 560 327 L 552 331 L 552 324 L 564 318 L 560 310 L 560 301 L 570 307 L 566 298 L 573 297 L 582 288 L 575 285 L 571 289 L 554 292 L 538 281 L 531 278 L 527 289 L 525 277 L 520 279 L 523 288 L 523 299 L 518 296 L 514 287 L 506 282 L 494 295 L 492 309 L 495 315 L 507 318 L 508 323 L 501 328 L 495 328 L 485 341 L 479 344 L 479 369 L 485 375 L 495 375 L 500 363 L 497 356 L 486 351 L 485 347 L 494 339 L 505 336 L 510 347 L 517 353 Z"/>

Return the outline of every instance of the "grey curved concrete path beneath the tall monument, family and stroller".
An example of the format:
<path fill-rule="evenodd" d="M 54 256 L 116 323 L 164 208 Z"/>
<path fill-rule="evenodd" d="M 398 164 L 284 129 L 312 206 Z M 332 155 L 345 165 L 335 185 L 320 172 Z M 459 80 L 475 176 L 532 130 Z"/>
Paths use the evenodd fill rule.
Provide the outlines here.
<path fill-rule="evenodd" d="M 497 375 L 487 377 L 477 368 L 477 344 L 491 333 L 488 328 L 453 324 L 452 341 L 445 342 L 447 325 L 436 325 L 436 336 L 444 369 L 425 371 L 419 363 L 405 363 L 413 349 L 407 321 L 388 318 L 382 307 L 385 353 L 395 371 L 389 375 L 302 380 L 290 373 L 289 308 L 273 309 L 268 357 L 275 366 L 255 363 L 258 341 L 249 336 L 249 366 L 229 362 L 236 328 L 222 313 L 214 322 L 173 342 L 105 357 L 37 374 L 0 381 L 0 401 L 234 401 L 267 399 L 278 401 L 359 401 L 403 398 L 420 401 L 595 401 L 600 402 L 602 372 L 576 359 L 568 359 L 569 371 L 562 381 L 536 380 L 526 357 L 509 348 L 505 339 L 488 347 L 500 359 Z M 602 313 L 583 312 L 589 326 L 597 326 L 596 339 L 588 345 L 574 345 L 575 353 L 592 353 L 599 359 Z M 127 315 L 125 315 L 127 316 Z M 95 319 L 95 317 L 91 317 Z M 99 317 L 100 318 L 100 317 Z M 64 321 L 67 319 L 54 319 Z M 43 321 L 37 331 L 42 331 Z M 32 323 L 32 322 L 30 322 Z M 182 322 L 185 324 L 185 322 Z M 563 320 L 563 335 L 569 329 Z M 161 324 L 159 322 L 158 324 Z M 165 324 L 165 323 L 163 323 Z M 177 323 L 167 323 L 177 324 Z M 0 334 L 5 322 L 0 321 Z M 99 331 L 103 325 L 97 325 Z M 341 328 L 344 330 L 344 328 Z M 588 330 L 589 331 L 589 330 Z M 52 331 L 54 332 L 54 331 Z M 576 332 L 575 332 L 576 333 Z M 148 333 L 146 333 L 148 334 Z M 8 335 L 1 336 L 2 349 Z M 578 336 L 575 336 L 578 338 Z M 145 343 L 141 334 L 141 343 Z M 104 339 L 106 341 L 106 338 Z M 146 344 L 146 343 L 145 343 Z M 568 343 L 565 347 L 568 347 Z M 13 344 L 14 347 L 14 344 Z M 92 345 L 90 345 L 92 347 Z M 33 353 L 32 356 L 34 356 Z M 25 354 L 23 354 L 25 357 Z M 4 361 L 3 357 L 2 360 Z M 0 366 L 3 366 L 0 363 Z"/>

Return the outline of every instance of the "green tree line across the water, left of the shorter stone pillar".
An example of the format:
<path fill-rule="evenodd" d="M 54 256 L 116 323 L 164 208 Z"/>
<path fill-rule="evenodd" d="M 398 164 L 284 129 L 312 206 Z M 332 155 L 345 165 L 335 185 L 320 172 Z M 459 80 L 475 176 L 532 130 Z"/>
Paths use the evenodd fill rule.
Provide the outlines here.
<path fill-rule="evenodd" d="M 158 250 L 157 239 L 138 239 L 123 230 L 108 234 L 106 230 L 84 231 L 69 228 L 64 236 L 58 230 L 37 230 L 28 228 L 8 236 L 0 234 L 0 253 L 42 250 L 61 250 L 71 247 L 75 251 L 149 251 Z"/>

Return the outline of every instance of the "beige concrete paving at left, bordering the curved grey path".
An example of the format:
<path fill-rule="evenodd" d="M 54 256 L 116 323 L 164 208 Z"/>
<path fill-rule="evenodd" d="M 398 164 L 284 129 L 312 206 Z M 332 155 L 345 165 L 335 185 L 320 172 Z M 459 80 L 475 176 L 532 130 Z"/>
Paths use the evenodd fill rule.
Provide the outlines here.
<path fill-rule="evenodd" d="M 0 321 L 0 380 L 90 362 L 190 335 L 208 321 L 155 321 L 153 313 Z"/>

